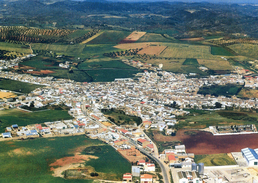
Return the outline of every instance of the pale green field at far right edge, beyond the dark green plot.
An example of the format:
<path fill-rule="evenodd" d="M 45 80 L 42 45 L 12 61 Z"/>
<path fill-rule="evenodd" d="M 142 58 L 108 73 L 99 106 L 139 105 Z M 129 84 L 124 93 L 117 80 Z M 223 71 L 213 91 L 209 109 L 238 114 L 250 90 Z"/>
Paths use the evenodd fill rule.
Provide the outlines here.
<path fill-rule="evenodd" d="M 235 51 L 238 55 L 251 57 L 251 58 L 258 58 L 257 50 L 258 45 L 254 44 L 234 44 L 229 46 L 230 49 Z"/>

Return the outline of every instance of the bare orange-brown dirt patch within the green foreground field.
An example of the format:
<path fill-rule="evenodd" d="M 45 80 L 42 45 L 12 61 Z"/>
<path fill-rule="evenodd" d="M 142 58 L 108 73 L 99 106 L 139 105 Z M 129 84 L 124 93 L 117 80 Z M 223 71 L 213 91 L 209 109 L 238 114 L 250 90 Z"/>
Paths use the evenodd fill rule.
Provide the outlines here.
<path fill-rule="evenodd" d="M 51 166 L 50 170 L 54 172 L 54 177 L 63 177 L 63 171 L 84 166 L 83 164 L 85 163 L 85 161 L 97 158 L 98 157 L 91 155 L 75 154 L 74 156 L 68 156 L 58 159 L 54 163 L 51 163 L 49 166 Z"/>

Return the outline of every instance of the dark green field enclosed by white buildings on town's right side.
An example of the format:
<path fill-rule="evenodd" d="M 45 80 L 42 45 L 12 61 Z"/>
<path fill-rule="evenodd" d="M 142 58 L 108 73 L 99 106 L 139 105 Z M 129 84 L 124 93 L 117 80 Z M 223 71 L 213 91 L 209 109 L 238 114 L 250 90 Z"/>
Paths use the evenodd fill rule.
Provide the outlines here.
<path fill-rule="evenodd" d="M 226 97 L 230 97 L 233 95 L 237 95 L 243 86 L 241 85 L 212 85 L 212 86 L 204 86 L 200 88 L 198 94 L 203 95 L 214 95 L 220 96 L 224 95 Z"/>

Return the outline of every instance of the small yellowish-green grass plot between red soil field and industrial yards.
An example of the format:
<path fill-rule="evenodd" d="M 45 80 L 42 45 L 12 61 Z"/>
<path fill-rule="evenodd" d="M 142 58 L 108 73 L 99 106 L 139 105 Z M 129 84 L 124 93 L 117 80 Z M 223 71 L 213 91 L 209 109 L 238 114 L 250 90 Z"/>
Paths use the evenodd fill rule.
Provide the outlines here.
<path fill-rule="evenodd" d="M 236 162 L 227 154 L 195 155 L 195 163 L 204 163 L 204 166 L 236 165 Z"/>

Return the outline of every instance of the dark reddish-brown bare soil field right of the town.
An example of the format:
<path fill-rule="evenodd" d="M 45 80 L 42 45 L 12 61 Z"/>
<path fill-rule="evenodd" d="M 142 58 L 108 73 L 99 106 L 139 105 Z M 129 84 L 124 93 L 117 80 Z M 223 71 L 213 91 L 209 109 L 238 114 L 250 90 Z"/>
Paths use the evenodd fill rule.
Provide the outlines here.
<path fill-rule="evenodd" d="M 196 135 L 189 136 L 184 134 L 185 131 L 179 130 L 175 137 L 155 135 L 155 139 L 158 141 L 180 140 L 185 144 L 187 153 L 194 154 L 230 153 L 240 152 L 246 147 L 258 148 L 258 134 L 213 136 L 208 132 L 196 131 Z"/>

